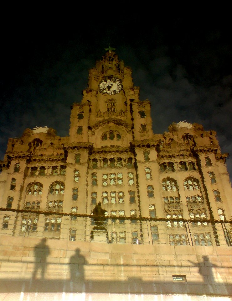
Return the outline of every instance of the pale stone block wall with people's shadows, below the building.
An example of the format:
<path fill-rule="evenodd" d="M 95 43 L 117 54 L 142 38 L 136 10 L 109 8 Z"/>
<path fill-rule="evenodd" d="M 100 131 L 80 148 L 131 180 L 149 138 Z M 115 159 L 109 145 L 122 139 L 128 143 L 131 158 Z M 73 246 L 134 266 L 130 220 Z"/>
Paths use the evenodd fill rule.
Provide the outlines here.
<path fill-rule="evenodd" d="M 11 293 L 230 296 L 231 247 L 104 244 L 3 235 L 3 300 L 10 300 Z"/>

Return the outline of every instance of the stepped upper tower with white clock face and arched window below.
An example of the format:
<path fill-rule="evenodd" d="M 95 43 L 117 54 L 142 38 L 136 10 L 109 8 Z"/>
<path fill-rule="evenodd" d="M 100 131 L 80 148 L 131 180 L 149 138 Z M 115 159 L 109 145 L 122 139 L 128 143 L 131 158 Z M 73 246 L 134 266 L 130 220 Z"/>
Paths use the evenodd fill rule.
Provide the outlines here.
<path fill-rule="evenodd" d="M 150 103 L 139 101 L 131 69 L 124 66 L 112 48 L 107 50 L 89 71 L 82 102 L 73 106 L 70 139 L 90 142 L 97 148 L 127 147 L 132 140 L 152 137 Z M 142 118 L 141 123 L 134 122 L 137 118 Z"/>

